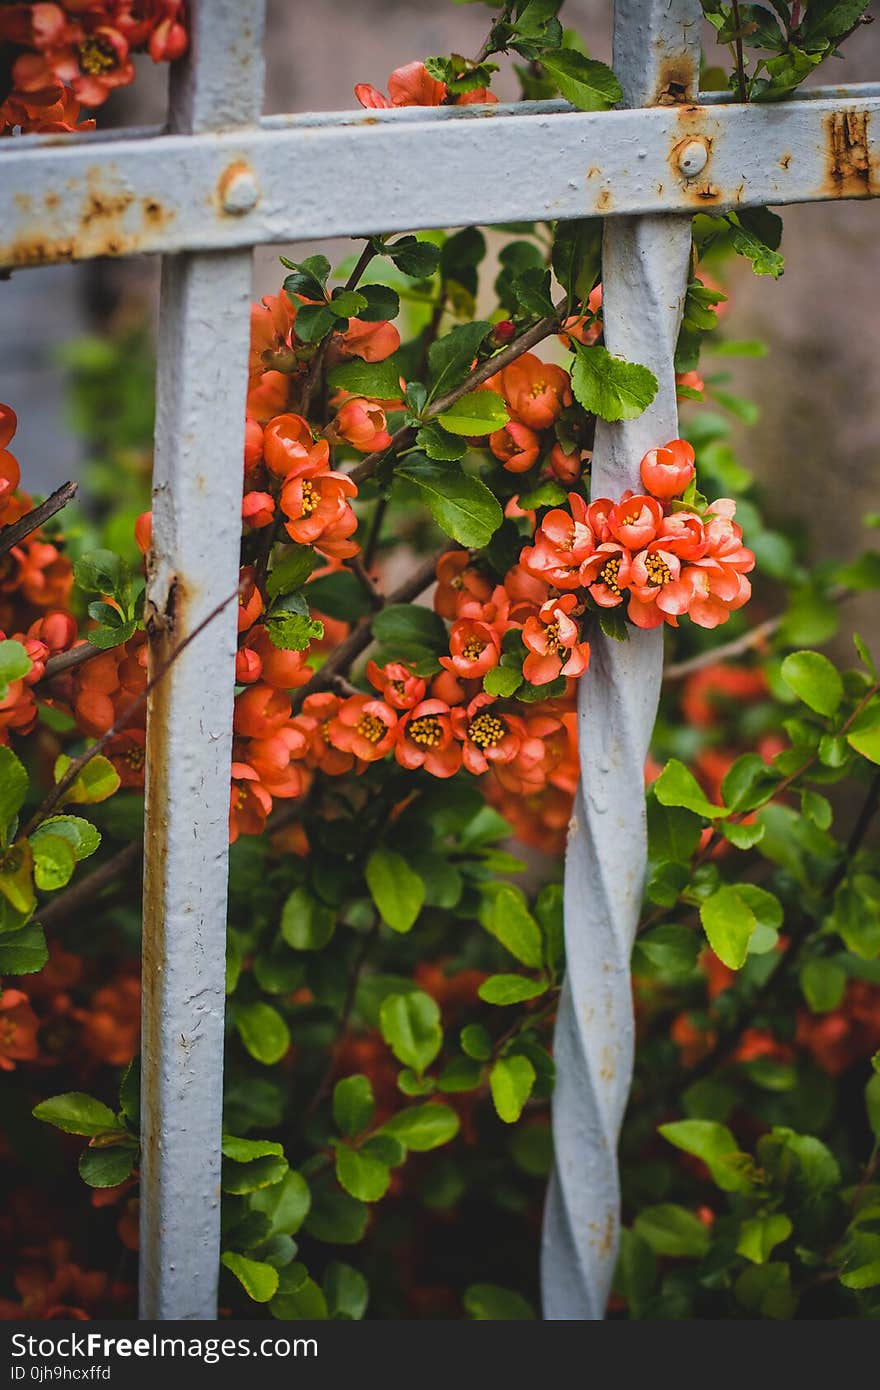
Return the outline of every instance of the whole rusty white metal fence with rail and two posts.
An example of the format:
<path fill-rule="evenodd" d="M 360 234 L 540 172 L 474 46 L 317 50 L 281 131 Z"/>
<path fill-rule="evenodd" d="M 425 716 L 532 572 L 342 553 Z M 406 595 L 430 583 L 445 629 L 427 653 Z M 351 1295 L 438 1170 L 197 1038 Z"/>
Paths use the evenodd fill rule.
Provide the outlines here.
<path fill-rule="evenodd" d="M 238 582 L 250 252 L 268 242 L 606 217 L 605 336 L 659 381 L 599 421 L 599 493 L 638 489 L 677 435 L 673 352 L 690 214 L 880 193 L 880 86 L 772 106 L 699 97 L 699 0 L 616 0 L 627 110 L 544 101 L 260 120 L 263 0 L 190 0 L 163 131 L 25 136 L 0 150 L 0 267 L 163 254 L 152 660 Z M 174 663 L 147 713 L 140 1312 L 213 1318 L 220 1248 L 224 959 L 235 612 Z M 556 1029 L 548 1318 L 601 1318 L 616 1145 L 633 1072 L 630 951 L 645 866 L 658 631 L 596 638 L 580 713 Z M 587 689 L 587 685 L 582 685 Z"/>

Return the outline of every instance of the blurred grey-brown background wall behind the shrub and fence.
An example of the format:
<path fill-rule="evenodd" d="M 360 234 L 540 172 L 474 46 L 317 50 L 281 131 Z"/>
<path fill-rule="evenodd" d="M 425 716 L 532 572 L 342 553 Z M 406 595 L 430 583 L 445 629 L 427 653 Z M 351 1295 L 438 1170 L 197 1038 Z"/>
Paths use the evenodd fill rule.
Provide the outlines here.
<path fill-rule="evenodd" d="M 610 58 L 610 0 L 567 0 L 563 19 Z M 350 108 L 355 82 L 385 88 L 391 70 L 413 58 L 475 53 L 487 22 L 482 6 L 449 0 L 270 0 L 266 110 Z M 167 72 L 138 61 L 138 83 L 108 103 L 103 124 L 163 120 Z M 826 63 L 817 81 L 872 78 L 880 79 L 880 24 L 855 35 L 845 61 Z M 514 79 L 505 74 L 498 92 L 516 97 Z M 820 555 L 854 553 L 866 541 L 858 514 L 879 505 L 880 203 L 787 208 L 784 222 L 784 277 L 758 279 L 742 265 L 731 285 L 731 334 L 770 345 L 766 361 L 737 367 L 738 385 L 760 406 L 744 461 L 776 506 L 815 524 Z M 257 252 L 256 293 L 278 288 L 278 250 Z M 339 243 L 331 254 L 348 250 Z M 24 271 L 0 284 L 0 399 L 19 410 L 17 449 L 32 486 L 76 468 L 53 346 L 107 322 L 122 302 L 131 310 L 132 299 L 154 311 L 154 261 Z"/>

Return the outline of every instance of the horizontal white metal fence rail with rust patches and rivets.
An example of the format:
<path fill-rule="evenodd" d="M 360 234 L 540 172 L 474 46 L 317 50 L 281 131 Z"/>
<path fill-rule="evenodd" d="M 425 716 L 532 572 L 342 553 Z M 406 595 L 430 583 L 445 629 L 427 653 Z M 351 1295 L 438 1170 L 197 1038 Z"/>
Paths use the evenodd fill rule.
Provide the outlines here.
<path fill-rule="evenodd" d="M 880 88 L 747 107 L 414 110 L 133 142 L 7 140 L 0 265 L 880 192 Z M 688 177 L 694 143 L 706 160 Z"/>

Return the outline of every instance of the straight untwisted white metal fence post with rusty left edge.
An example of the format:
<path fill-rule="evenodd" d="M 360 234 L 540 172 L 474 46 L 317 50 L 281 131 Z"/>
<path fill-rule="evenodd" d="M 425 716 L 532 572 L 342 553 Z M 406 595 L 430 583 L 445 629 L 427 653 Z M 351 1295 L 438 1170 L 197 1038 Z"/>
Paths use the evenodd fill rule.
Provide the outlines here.
<path fill-rule="evenodd" d="M 263 0 L 190 4 L 192 53 L 175 74 L 171 129 L 256 124 Z M 220 215 L 259 189 L 235 164 Z M 238 584 L 250 252 L 163 263 L 153 555 L 156 671 Z M 147 710 L 143 891 L 140 1316 L 214 1318 L 229 760 L 238 605 L 193 641 Z"/>

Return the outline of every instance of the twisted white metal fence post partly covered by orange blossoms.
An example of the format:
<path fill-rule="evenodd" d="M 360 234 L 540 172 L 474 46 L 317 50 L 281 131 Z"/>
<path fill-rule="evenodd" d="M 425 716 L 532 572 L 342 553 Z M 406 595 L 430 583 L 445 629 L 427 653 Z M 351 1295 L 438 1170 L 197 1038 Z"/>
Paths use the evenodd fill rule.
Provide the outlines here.
<path fill-rule="evenodd" d="M 627 106 L 692 101 L 699 0 L 616 0 L 614 71 Z M 637 157 L 637 152 L 633 152 Z M 596 431 L 594 498 L 641 491 L 638 464 L 677 435 L 673 353 L 688 279 L 688 217 L 609 217 L 605 341 L 659 389 L 638 420 Z M 544 1226 L 546 1318 L 602 1318 L 620 1225 L 617 1138 L 633 1077 L 630 954 L 646 858 L 644 764 L 660 692 L 662 631 L 598 637 L 581 685 L 581 781 L 566 855 L 567 974 L 556 1026 L 556 1168 Z"/>

